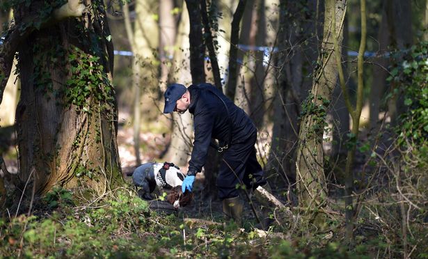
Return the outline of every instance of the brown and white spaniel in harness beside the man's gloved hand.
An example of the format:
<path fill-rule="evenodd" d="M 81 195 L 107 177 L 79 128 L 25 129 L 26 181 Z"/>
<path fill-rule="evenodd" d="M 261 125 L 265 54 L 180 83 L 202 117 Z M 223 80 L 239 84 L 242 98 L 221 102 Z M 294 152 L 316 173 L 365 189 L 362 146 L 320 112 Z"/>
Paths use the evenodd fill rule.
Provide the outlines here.
<path fill-rule="evenodd" d="M 171 189 L 166 196 L 168 203 L 175 209 L 188 205 L 193 194 L 189 191 L 182 193 L 182 183 L 185 175 L 173 163 L 145 163 L 138 166 L 132 173 L 134 185 L 138 188 L 138 196 L 152 200 L 151 193 L 159 189 Z"/>

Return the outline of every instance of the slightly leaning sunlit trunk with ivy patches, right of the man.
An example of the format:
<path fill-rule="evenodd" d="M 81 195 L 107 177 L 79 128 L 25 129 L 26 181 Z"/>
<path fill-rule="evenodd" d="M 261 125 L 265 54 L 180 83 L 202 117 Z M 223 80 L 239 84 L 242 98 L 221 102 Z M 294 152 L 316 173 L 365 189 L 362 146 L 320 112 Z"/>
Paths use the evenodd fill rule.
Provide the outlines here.
<path fill-rule="evenodd" d="M 324 13 L 324 37 L 319 56 L 319 68 L 314 72 L 310 95 L 303 104 L 303 117 L 299 132 L 299 149 L 296 160 L 296 178 L 299 182 L 299 201 L 310 207 L 309 211 L 317 213 L 316 207 L 326 204 L 326 178 L 323 168 L 322 137 L 326 123 L 326 111 L 331 102 L 331 95 L 337 81 L 338 72 L 333 49 L 333 29 L 338 31 L 338 42 L 342 43 L 346 1 L 327 0 Z M 335 24 L 332 17 L 335 15 Z"/>

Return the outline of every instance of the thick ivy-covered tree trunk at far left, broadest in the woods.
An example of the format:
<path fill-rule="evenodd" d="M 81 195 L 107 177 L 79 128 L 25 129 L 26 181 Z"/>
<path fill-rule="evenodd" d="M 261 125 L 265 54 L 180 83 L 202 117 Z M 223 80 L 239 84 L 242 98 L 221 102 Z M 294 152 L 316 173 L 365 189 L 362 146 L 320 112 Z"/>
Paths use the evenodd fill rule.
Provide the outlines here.
<path fill-rule="evenodd" d="M 28 7 L 15 6 L 15 21 L 24 22 L 46 4 L 31 1 Z M 78 3 L 69 1 L 64 6 L 71 10 L 72 4 Z M 111 84 L 113 45 L 103 2 L 95 0 L 86 6 L 83 14 L 71 15 L 76 18 L 54 13 L 55 23 L 35 29 L 17 49 L 22 82 L 16 112 L 22 190 L 34 185 L 35 194 L 43 194 L 54 186 L 87 187 L 103 194 L 122 183 L 118 110 Z M 38 19 L 52 16 L 43 15 Z"/>

